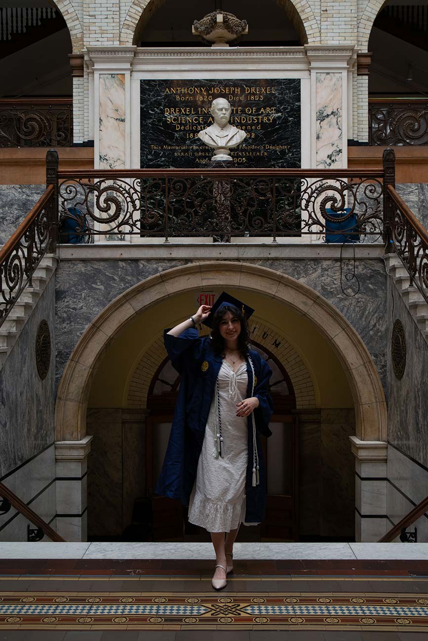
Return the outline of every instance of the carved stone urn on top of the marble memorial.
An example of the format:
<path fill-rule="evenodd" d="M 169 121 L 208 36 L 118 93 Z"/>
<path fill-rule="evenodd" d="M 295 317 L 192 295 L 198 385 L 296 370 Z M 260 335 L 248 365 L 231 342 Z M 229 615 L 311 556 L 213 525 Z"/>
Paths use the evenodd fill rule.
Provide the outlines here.
<path fill-rule="evenodd" d="M 192 33 L 213 47 L 228 47 L 229 42 L 248 33 L 246 20 L 239 20 L 233 13 L 213 11 L 201 20 L 195 20 Z"/>

